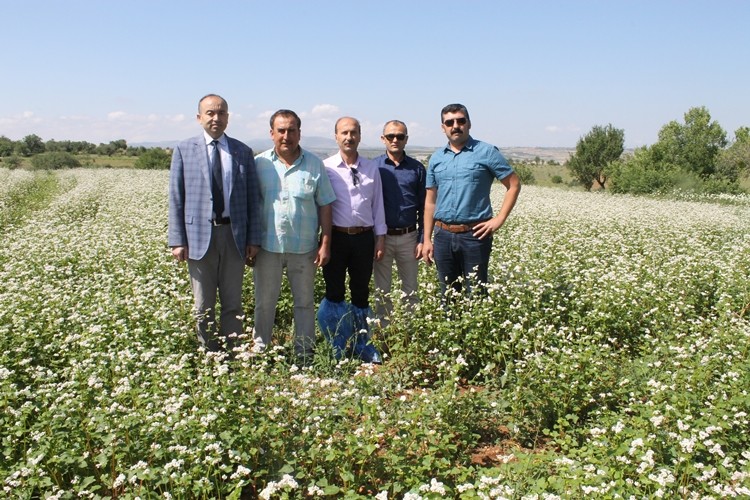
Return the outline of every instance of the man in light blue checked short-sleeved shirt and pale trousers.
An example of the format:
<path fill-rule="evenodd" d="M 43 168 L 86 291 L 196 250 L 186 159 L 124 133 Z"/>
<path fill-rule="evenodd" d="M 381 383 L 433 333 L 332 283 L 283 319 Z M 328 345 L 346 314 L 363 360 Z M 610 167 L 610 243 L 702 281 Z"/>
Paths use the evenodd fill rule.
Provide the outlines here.
<path fill-rule="evenodd" d="M 299 116 L 281 109 L 270 123 L 274 147 L 255 157 L 263 220 L 253 271 L 253 337 L 258 350 L 271 343 L 286 267 L 294 300 L 295 354 L 309 361 L 315 345 L 315 271 L 330 258 L 331 203 L 336 196 L 323 162 L 299 145 Z"/>

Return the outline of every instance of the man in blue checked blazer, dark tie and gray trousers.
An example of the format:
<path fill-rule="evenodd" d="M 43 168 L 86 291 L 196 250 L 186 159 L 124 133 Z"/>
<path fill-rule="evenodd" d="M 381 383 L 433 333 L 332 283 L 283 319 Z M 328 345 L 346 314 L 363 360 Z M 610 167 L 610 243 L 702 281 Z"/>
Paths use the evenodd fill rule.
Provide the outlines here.
<path fill-rule="evenodd" d="M 242 279 L 260 246 L 260 192 L 253 151 L 224 130 L 229 105 L 209 94 L 198 103 L 204 133 L 174 150 L 169 175 L 169 246 L 187 261 L 198 341 L 230 353 L 242 330 Z M 216 293 L 221 320 L 216 328 Z"/>

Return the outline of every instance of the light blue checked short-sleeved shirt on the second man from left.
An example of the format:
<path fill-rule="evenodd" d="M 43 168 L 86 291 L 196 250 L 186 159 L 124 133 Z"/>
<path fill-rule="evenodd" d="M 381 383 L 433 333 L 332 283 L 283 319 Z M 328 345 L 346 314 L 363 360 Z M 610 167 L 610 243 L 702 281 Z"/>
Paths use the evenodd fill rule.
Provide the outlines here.
<path fill-rule="evenodd" d="M 302 254 L 318 248 L 318 207 L 333 203 L 323 162 L 300 148 L 294 164 L 269 149 L 255 157 L 261 198 L 261 246 L 274 253 Z"/>

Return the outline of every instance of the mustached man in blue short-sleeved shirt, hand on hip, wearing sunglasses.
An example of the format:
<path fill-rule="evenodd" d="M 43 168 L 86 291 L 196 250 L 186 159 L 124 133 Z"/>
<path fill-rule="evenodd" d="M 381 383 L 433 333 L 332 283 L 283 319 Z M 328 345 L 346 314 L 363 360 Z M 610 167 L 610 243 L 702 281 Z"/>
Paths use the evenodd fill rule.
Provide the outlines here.
<path fill-rule="evenodd" d="M 492 235 L 510 215 L 521 182 L 497 147 L 469 135 L 469 111 L 449 104 L 441 113 L 448 144 L 433 153 L 427 170 L 422 258 L 435 262 L 440 287 L 461 291 L 459 277 L 471 283 L 488 281 Z M 506 192 L 493 216 L 490 191 L 499 179 Z M 433 239 L 434 233 L 434 241 Z"/>

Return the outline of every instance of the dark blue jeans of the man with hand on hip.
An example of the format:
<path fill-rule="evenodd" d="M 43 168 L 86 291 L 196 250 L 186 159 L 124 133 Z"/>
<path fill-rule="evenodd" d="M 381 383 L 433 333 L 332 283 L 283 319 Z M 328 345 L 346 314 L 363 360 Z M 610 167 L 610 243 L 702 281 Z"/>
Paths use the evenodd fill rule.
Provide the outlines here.
<path fill-rule="evenodd" d="M 461 291 L 460 276 L 464 277 L 467 292 L 472 284 L 487 283 L 492 236 L 480 240 L 471 231 L 451 233 L 435 227 L 432 245 L 443 295 L 449 286 Z"/>

